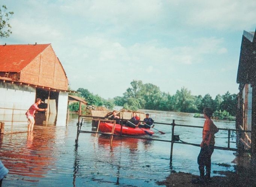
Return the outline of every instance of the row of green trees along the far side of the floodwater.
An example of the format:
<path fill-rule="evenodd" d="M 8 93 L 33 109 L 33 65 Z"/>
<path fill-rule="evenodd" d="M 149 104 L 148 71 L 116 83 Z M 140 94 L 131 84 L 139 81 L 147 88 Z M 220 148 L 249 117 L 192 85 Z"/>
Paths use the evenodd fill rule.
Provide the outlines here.
<path fill-rule="evenodd" d="M 210 94 L 205 96 L 193 96 L 191 91 L 185 87 L 177 90 L 175 94 L 162 92 L 157 85 L 133 80 L 131 87 L 127 88 L 123 96 L 113 99 L 104 99 L 89 90 L 79 88 L 77 96 L 83 97 L 88 105 L 105 106 L 112 109 L 115 105 L 123 106 L 125 109 L 136 111 L 137 109 L 151 109 L 161 111 L 177 111 L 202 113 L 203 108 L 209 107 L 213 111 L 225 111 L 230 115 L 236 115 L 236 94 L 227 91 L 224 95 L 218 94 L 212 99 Z"/>

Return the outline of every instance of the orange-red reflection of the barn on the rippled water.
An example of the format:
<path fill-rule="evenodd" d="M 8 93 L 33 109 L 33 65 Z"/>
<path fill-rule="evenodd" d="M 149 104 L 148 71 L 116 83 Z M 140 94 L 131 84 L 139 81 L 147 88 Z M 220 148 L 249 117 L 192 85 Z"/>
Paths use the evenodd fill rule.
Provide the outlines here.
<path fill-rule="evenodd" d="M 3 158 L 9 174 L 24 176 L 23 180 L 39 181 L 54 166 L 53 139 L 55 129 L 35 127 L 33 132 L 1 136 L 0 157 Z M 23 142 L 26 142 L 24 144 Z M 29 177 L 29 178 L 26 178 Z"/>

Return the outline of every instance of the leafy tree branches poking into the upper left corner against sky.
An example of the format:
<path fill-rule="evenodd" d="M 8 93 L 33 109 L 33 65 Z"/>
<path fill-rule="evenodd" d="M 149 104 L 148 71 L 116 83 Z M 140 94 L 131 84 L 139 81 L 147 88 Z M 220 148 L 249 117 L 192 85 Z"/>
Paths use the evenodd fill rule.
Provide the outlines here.
<path fill-rule="evenodd" d="M 9 20 L 14 12 L 8 12 L 5 5 L 0 7 L 0 38 L 9 37 L 12 34 Z"/>

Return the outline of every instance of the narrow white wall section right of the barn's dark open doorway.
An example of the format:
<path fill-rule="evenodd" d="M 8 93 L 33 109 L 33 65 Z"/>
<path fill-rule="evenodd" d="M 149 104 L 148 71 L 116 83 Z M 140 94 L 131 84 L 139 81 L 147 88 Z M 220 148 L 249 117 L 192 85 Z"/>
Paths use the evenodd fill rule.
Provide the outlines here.
<path fill-rule="evenodd" d="M 67 109 L 68 109 L 68 93 L 60 92 L 59 100 L 58 100 L 58 114 L 56 126 L 65 126 L 66 125 L 66 117 L 67 117 Z"/>

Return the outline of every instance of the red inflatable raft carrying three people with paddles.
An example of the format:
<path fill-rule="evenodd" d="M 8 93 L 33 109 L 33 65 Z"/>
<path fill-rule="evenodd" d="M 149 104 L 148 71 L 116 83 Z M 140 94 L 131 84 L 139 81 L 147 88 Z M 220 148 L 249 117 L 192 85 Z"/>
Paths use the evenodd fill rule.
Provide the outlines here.
<path fill-rule="evenodd" d="M 111 133 L 112 129 L 113 129 L 113 123 L 106 123 L 106 122 L 101 122 L 99 123 L 99 130 L 101 132 L 107 132 L 107 133 Z M 141 135 L 147 135 L 146 132 L 148 132 L 149 134 L 153 135 L 154 132 L 150 129 L 145 129 L 145 128 L 132 128 L 132 127 L 122 127 L 122 134 L 123 135 L 130 135 L 130 136 L 141 136 Z M 121 133 L 121 125 L 120 124 L 116 124 L 114 127 L 114 134 L 116 135 L 120 135 Z"/>

